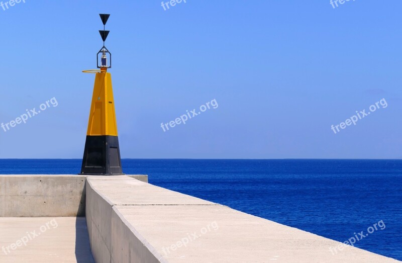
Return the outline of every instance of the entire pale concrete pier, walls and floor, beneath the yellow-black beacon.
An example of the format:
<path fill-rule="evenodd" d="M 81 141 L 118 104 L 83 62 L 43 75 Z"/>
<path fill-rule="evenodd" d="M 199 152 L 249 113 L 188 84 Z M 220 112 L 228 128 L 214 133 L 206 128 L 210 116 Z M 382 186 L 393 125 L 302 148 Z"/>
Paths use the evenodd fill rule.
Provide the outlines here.
<path fill-rule="evenodd" d="M 22 178 L 42 180 L 44 185 L 24 184 Z M 51 186 L 53 180 L 65 186 L 55 192 L 37 189 Z M 3 184 L 19 187 L 5 188 Z M 0 262 L 27 262 L 33 256 L 42 258 L 38 262 L 53 262 L 51 256 L 56 255 L 65 261 L 54 262 L 398 262 L 128 176 L 0 176 L 0 191 L 2 210 L 7 208 L 2 216 L 14 215 L 16 207 L 5 193 L 14 195 L 20 203 L 29 203 L 24 213 L 18 212 L 20 215 L 38 216 L 38 212 L 29 210 L 37 206 L 43 209 L 43 200 L 51 200 L 52 195 L 61 202 L 59 206 L 71 206 L 56 210 L 63 217 L 55 219 L 63 227 L 49 227 L 37 237 L 36 245 L 37 240 L 32 240 L 13 250 L 13 258 L 12 253 L 0 251 Z M 35 191 L 41 193 L 40 198 L 27 197 L 28 193 L 36 196 Z M 48 209 L 56 207 L 57 202 Z M 65 217 L 74 205 L 75 216 L 84 214 L 85 221 L 74 215 Z M 48 209 L 40 211 L 53 215 Z M 0 218 L 0 235 L 7 237 L 0 245 L 10 246 L 25 232 L 39 229 L 52 218 Z M 79 246 L 77 240 L 82 242 Z M 330 247 L 342 249 L 333 254 Z"/>

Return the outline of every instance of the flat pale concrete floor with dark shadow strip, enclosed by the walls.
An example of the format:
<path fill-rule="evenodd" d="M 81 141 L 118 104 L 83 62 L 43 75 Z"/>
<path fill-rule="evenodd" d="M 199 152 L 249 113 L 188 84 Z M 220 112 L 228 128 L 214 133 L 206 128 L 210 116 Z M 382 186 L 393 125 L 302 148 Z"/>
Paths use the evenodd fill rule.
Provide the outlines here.
<path fill-rule="evenodd" d="M 0 218 L 0 262 L 93 263 L 85 218 Z"/>

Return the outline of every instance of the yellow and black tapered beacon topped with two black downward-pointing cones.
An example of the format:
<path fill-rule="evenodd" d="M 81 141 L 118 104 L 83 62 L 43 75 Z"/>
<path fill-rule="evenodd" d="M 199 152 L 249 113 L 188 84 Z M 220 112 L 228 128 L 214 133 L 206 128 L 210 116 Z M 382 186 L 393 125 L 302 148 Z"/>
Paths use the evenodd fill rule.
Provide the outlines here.
<path fill-rule="evenodd" d="M 100 36 L 104 41 L 104 46 L 97 53 L 97 57 L 102 54 L 100 66 L 98 61 L 96 63 L 100 70 L 83 71 L 95 73 L 96 75 L 80 174 L 111 176 L 124 173 L 122 173 L 117 134 L 112 75 L 107 72 L 108 68 L 112 67 L 108 65 L 107 58 L 109 53 L 110 60 L 112 60 L 112 54 L 105 47 L 105 40 L 109 34 L 109 31 L 105 31 L 105 25 L 110 15 L 99 14 L 99 16 L 104 23 L 104 30 L 99 30 Z"/>

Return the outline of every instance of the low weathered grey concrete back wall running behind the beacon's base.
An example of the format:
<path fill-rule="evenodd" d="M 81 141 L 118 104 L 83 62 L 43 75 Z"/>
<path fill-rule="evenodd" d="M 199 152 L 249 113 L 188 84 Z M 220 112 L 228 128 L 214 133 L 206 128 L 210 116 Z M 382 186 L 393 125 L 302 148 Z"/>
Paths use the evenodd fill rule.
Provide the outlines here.
<path fill-rule="evenodd" d="M 129 177 L 148 183 L 148 176 Z M 71 174 L 0 175 L 0 217 L 85 216 L 85 182 Z"/>

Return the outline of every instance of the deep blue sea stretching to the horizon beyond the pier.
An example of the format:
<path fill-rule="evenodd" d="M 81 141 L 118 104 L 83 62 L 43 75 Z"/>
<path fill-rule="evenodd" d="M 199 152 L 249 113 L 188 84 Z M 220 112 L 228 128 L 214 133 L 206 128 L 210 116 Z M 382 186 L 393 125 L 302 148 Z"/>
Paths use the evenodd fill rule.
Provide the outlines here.
<path fill-rule="evenodd" d="M 402 260 L 402 160 L 122 162 L 125 173 L 148 174 L 151 184 L 341 242 L 377 223 L 355 246 Z M 81 160 L 3 159 L 0 173 L 76 174 L 80 166 Z"/>

